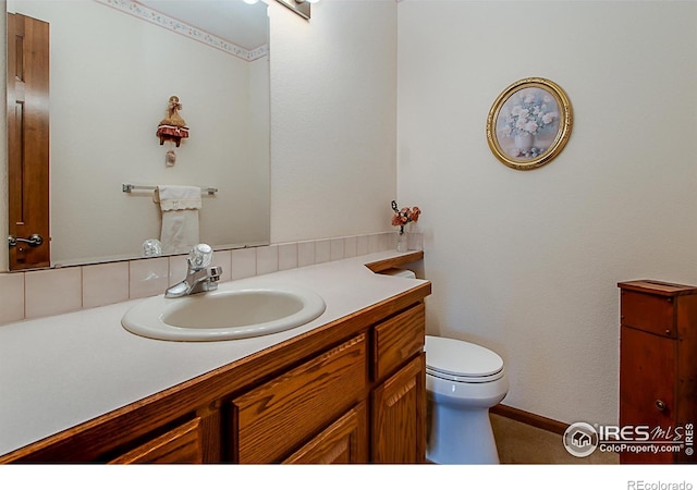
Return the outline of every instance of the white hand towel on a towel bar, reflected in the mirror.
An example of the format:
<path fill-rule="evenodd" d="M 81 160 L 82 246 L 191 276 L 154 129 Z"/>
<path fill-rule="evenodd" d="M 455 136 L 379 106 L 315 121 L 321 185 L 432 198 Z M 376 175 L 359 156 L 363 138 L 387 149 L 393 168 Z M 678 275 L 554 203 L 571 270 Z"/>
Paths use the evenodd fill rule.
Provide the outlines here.
<path fill-rule="evenodd" d="M 159 185 L 155 191 L 154 200 L 160 204 L 162 210 L 160 233 L 162 252 L 170 254 L 188 252 L 199 243 L 200 187 Z"/>

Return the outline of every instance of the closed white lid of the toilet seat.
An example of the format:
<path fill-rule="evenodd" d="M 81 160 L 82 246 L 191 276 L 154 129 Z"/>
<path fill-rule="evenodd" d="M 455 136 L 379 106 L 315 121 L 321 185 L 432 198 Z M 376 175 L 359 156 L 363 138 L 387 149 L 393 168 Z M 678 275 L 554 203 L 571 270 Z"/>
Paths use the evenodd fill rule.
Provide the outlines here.
<path fill-rule="evenodd" d="M 465 377 L 487 377 L 503 369 L 493 351 L 469 342 L 426 335 L 426 366 L 435 371 Z"/>

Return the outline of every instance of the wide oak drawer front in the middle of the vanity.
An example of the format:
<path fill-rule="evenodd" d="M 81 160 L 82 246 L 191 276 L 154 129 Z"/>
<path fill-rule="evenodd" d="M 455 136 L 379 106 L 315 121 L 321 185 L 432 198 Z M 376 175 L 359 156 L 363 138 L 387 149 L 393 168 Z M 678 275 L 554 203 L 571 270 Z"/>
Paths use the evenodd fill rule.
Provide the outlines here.
<path fill-rule="evenodd" d="M 355 405 L 367 384 L 360 334 L 232 401 L 240 463 L 283 460 Z"/>

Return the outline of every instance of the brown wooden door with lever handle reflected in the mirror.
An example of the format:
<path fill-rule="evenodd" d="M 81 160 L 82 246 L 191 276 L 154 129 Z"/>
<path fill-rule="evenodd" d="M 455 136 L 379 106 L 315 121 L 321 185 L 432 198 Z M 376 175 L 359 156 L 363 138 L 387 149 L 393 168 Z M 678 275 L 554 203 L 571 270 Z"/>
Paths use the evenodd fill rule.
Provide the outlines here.
<path fill-rule="evenodd" d="M 50 266 L 49 44 L 48 23 L 8 14 L 10 270 Z"/>

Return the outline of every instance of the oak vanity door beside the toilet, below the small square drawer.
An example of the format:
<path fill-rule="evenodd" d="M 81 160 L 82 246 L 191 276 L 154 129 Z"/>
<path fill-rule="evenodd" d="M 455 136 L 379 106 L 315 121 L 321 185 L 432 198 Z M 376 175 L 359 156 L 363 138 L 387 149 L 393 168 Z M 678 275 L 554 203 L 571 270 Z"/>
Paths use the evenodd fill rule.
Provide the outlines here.
<path fill-rule="evenodd" d="M 372 462 L 425 462 L 425 362 L 421 353 L 372 392 Z"/>

